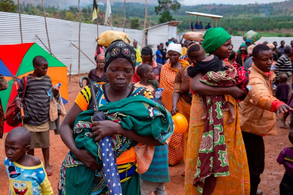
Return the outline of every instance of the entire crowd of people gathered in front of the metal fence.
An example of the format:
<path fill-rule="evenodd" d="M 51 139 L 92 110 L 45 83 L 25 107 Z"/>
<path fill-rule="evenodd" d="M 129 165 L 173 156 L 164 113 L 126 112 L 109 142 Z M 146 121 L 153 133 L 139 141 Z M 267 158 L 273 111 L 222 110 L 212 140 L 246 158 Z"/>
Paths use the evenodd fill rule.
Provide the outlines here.
<path fill-rule="evenodd" d="M 207 27 L 203 42 L 172 38 L 155 53 L 137 41 L 98 48 L 88 85 L 56 132 L 70 150 L 60 162 L 60 195 L 167 194 L 168 166 L 181 160 L 182 194 L 261 194 L 263 137 L 277 134 L 276 115 L 283 114 L 280 126 L 287 128 L 293 111 L 293 41 L 277 47 L 246 40 L 233 51 L 223 28 Z M 30 118 L 5 140 L 11 194 L 53 194 L 49 109 L 60 94 L 46 75 L 47 60 L 37 56 L 33 65 L 34 72 L 20 81 L 24 101 L 15 102 Z M 163 89 L 159 97 L 157 89 Z M 184 133 L 173 132 L 176 113 L 188 121 Z M 288 137 L 293 144 L 293 117 Z M 34 148 L 42 148 L 44 164 Z M 290 146 L 276 157 L 286 169 L 280 194 L 293 194 L 292 159 Z"/>

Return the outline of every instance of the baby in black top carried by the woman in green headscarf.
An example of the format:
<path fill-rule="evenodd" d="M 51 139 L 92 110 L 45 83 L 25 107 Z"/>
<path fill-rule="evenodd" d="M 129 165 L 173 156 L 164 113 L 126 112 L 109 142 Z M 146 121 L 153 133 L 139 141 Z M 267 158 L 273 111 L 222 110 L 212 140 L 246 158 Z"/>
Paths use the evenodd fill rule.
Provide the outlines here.
<path fill-rule="evenodd" d="M 187 50 L 188 58 L 193 61 L 193 66 L 188 68 L 188 75 L 190 77 L 195 77 L 197 73 L 202 73 L 205 75 L 208 72 L 218 72 L 218 71 L 226 71 L 224 67 L 226 64 L 224 61 L 220 60 L 215 55 L 207 56 L 205 49 L 198 44 L 191 45 Z M 231 82 L 233 82 L 231 80 Z M 230 102 L 226 102 L 229 107 L 230 119 L 227 124 L 233 123 L 235 120 L 235 110 L 234 105 Z M 205 120 L 207 116 L 201 118 L 201 120 Z"/>

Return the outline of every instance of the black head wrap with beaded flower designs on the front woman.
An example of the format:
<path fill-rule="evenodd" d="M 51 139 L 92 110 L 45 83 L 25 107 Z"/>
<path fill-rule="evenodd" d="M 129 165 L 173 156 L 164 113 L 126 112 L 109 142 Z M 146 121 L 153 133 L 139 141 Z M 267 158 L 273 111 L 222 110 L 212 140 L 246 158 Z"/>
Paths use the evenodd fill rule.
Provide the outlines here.
<path fill-rule="evenodd" d="M 107 70 L 110 62 L 117 58 L 124 58 L 130 61 L 134 72 L 136 66 L 136 51 L 131 45 L 125 43 L 120 39 L 113 41 L 107 48 L 105 53 L 104 71 Z"/>

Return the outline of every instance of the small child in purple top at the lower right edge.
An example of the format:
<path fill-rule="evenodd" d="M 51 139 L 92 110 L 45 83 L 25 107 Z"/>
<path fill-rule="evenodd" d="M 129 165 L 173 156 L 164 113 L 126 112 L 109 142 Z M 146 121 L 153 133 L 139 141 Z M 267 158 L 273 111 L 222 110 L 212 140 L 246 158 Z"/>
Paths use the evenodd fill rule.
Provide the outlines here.
<path fill-rule="evenodd" d="M 293 144 L 293 130 L 289 133 L 289 140 Z M 284 148 L 277 158 L 280 165 L 284 165 L 285 173 L 280 183 L 280 194 L 293 194 L 293 148 Z"/>

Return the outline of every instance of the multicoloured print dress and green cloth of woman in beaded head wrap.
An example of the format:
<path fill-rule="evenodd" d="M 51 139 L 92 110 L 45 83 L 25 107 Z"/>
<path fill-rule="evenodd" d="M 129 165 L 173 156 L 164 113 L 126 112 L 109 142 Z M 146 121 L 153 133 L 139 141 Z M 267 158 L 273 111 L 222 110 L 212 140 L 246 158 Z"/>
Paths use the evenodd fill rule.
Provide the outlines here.
<path fill-rule="evenodd" d="M 103 107 L 107 107 L 109 105 L 119 105 L 121 106 L 121 108 L 125 109 L 125 110 L 130 110 L 129 105 L 134 104 L 135 101 L 140 102 L 141 99 L 145 100 L 146 102 L 149 102 L 149 104 L 156 104 L 154 105 L 155 107 L 158 106 L 156 102 L 150 101 L 149 99 L 153 99 L 151 93 L 146 89 L 146 88 L 138 88 L 138 87 L 134 87 L 132 85 L 132 90 L 130 92 L 130 94 L 128 95 L 128 98 L 122 99 L 120 100 L 120 102 L 124 102 L 123 104 L 120 104 L 119 101 L 118 102 L 110 102 L 107 98 L 107 95 L 104 93 L 105 92 L 105 84 L 104 85 L 94 85 L 95 87 L 95 91 L 96 91 L 96 98 L 98 100 L 98 106 L 99 109 L 102 109 Z M 139 97 L 134 97 L 134 96 L 139 96 Z M 143 97 L 142 97 L 143 96 Z M 125 102 L 128 101 L 128 102 Z M 102 161 L 100 160 L 100 150 L 97 148 L 100 148 L 99 144 L 100 143 L 94 143 L 93 139 L 89 139 L 86 136 L 88 134 L 90 134 L 90 128 L 91 128 L 91 120 L 92 120 L 92 115 L 93 115 L 93 110 L 91 110 L 91 105 L 93 104 L 91 101 L 91 93 L 90 93 L 90 88 L 87 86 L 85 87 L 83 90 L 81 90 L 81 93 L 78 95 L 78 97 L 75 100 L 76 104 L 79 105 L 79 107 L 82 110 L 86 110 L 84 112 L 81 112 L 77 118 L 76 118 L 76 125 L 74 126 L 74 137 L 75 137 L 75 143 L 76 146 L 78 148 L 81 148 L 82 146 L 85 147 L 85 145 L 87 147 L 86 150 L 92 154 L 95 154 L 94 156 L 96 157 L 97 162 L 100 165 L 103 165 L 105 167 L 105 163 L 102 164 Z M 109 102 L 109 103 L 108 103 Z M 146 110 L 147 111 L 151 110 L 148 107 L 145 107 L 146 104 L 143 103 L 143 101 L 140 102 L 141 104 L 139 104 L 141 106 L 141 108 L 139 110 Z M 122 107 L 123 105 L 123 107 Z M 159 105 L 160 106 L 160 105 Z M 121 108 L 117 108 L 118 110 Z M 158 107 L 159 108 L 159 107 Z M 105 115 L 107 116 L 107 114 L 109 114 L 109 117 L 111 120 L 117 122 L 116 120 L 119 119 L 119 116 L 122 116 L 123 114 L 117 114 L 118 112 L 117 109 L 115 110 L 114 108 L 112 108 L 113 110 L 113 114 L 110 114 L 111 109 L 106 109 L 109 110 Z M 164 108 L 160 107 L 160 109 L 165 110 Z M 102 109 L 103 110 L 103 109 Z M 154 110 L 154 109 L 153 109 Z M 155 109 L 156 110 L 156 109 Z M 91 112 L 91 113 L 88 113 Z M 170 125 L 172 125 L 171 127 L 171 131 L 173 132 L 173 124 L 172 122 L 168 122 L 168 121 L 172 121 L 171 119 L 171 115 L 165 110 L 164 111 L 166 114 L 165 115 L 169 115 L 167 122 L 164 122 L 164 124 L 169 124 L 168 126 L 171 127 Z M 133 112 L 135 113 L 135 112 Z M 154 114 L 156 113 L 152 113 L 152 112 L 146 112 L 147 115 L 149 116 L 149 114 L 153 114 L 152 117 L 150 117 L 150 119 L 158 119 L 161 120 L 163 118 L 163 116 L 155 116 Z M 137 113 L 135 113 L 137 114 Z M 120 117 L 120 119 L 123 120 L 127 120 L 130 119 L 132 116 L 131 115 L 123 115 L 122 117 Z M 108 117 L 107 117 L 108 118 Z M 161 118 L 161 119 L 160 119 Z M 139 122 L 136 121 L 136 119 L 132 118 L 132 124 L 134 126 L 143 126 L 144 128 L 142 128 L 142 131 L 146 130 L 145 128 L 147 128 L 148 126 L 146 126 L 146 122 L 147 122 L 147 117 L 144 117 L 144 121 Z M 158 122 L 158 121 L 157 121 Z M 161 120 L 162 122 L 162 120 Z M 122 122 L 119 122 L 123 128 L 127 129 L 127 125 L 130 124 L 130 122 L 124 122 L 124 125 L 122 124 Z M 156 123 L 154 123 L 155 125 Z M 159 125 L 160 126 L 160 125 Z M 163 127 L 163 125 L 162 125 Z M 166 130 L 168 131 L 168 129 L 170 128 L 166 128 Z M 132 129 L 132 128 L 128 128 L 128 129 Z M 156 130 L 157 128 L 149 128 L 149 132 L 153 130 Z M 85 131 L 85 133 L 82 135 L 78 135 L 81 131 Z M 163 132 L 163 131 L 162 131 Z M 171 136 L 171 134 L 168 133 L 168 136 Z M 119 174 L 120 177 L 120 182 L 121 182 L 121 188 L 122 188 L 122 193 L 123 194 L 129 194 L 129 195 L 136 195 L 140 193 L 140 184 L 139 184 L 139 177 L 138 177 L 138 163 L 137 161 L 139 159 L 137 159 L 137 151 L 135 151 L 134 146 L 137 145 L 137 142 L 132 141 L 129 138 L 126 138 L 124 136 L 120 136 L 120 135 L 113 135 L 111 137 L 112 139 L 112 145 L 114 148 L 114 154 L 116 159 L 116 163 L 117 163 L 117 167 L 118 167 L 118 172 L 117 175 Z M 166 138 L 163 138 L 164 140 L 166 140 Z M 163 140 L 162 140 L 163 141 Z M 163 141 L 165 142 L 165 141 Z M 109 144 L 110 146 L 110 144 Z M 113 150 L 112 150 L 113 151 Z M 114 157 L 113 157 L 114 158 Z M 107 159 L 108 161 L 108 159 Z M 149 159 L 149 163 L 151 162 L 151 158 Z M 75 194 L 76 192 L 80 191 L 81 187 L 83 189 L 84 192 L 90 192 L 90 194 L 100 194 L 100 195 L 104 195 L 104 194 L 109 194 L 109 190 L 108 187 L 106 187 L 106 181 L 105 181 L 105 175 L 104 172 L 105 170 L 96 170 L 96 172 L 91 171 L 90 169 L 88 169 L 86 166 L 80 166 L 82 165 L 82 162 L 80 162 L 76 156 L 74 156 L 74 154 L 70 151 L 65 160 L 64 163 L 62 164 L 61 167 L 61 172 L 60 172 L 60 184 L 59 184 L 59 189 L 61 191 L 61 194 L 65 194 L 67 192 L 67 194 Z M 72 170 L 71 167 L 74 167 L 75 170 Z M 107 171 L 107 170 L 106 170 Z M 70 174 L 72 173 L 72 174 Z M 68 174 L 68 175 L 67 175 Z M 93 178 L 93 181 L 89 181 L 88 180 L 88 176 L 90 176 L 90 178 Z M 112 175 L 113 176 L 113 175 Z M 78 181 L 77 181 L 78 180 Z M 110 180 L 110 179 L 109 179 Z M 72 185 L 72 183 L 74 183 L 74 185 Z M 89 184 L 88 184 L 89 183 Z M 118 185 L 120 186 L 120 183 L 118 183 Z M 66 187 L 66 188 L 65 188 Z M 113 185 L 113 187 L 115 187 Z M 111 193 L 111 190 L 110 190 Z"/>

